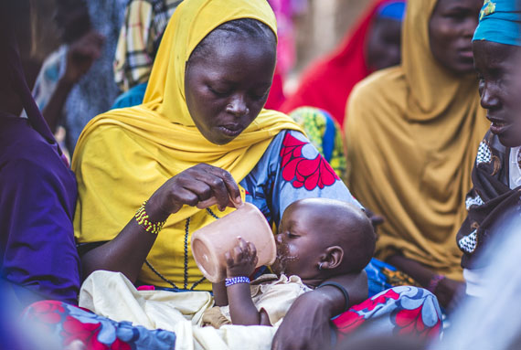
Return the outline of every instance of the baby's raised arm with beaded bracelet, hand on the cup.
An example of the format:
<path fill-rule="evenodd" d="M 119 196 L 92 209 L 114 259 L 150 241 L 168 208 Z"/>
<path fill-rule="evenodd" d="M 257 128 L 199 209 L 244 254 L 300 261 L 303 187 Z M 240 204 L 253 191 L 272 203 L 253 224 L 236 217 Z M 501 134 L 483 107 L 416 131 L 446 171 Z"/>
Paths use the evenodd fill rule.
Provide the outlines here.
<path fill-rule="evenodd" d="M 248 277 L 257 265 L 257 250 L 253 243 L 239 237 L 239 243 L 225 254 L 228 281 L 239 277 Z M 271 325 L 264 311 L 257 311 L 251 300 L 250 283 L 237 282 L 226 287 L 229 301 L 231 323 L 242 325 Z"/>

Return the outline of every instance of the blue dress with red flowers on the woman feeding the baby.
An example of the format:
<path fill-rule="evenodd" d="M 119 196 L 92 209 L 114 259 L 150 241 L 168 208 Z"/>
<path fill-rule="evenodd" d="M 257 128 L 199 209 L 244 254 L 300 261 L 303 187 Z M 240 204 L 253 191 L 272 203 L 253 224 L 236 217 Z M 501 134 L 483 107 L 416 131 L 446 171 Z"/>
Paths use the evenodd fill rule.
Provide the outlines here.
<path fill-rule="evenodd" d="M 246 201 L 259 207 L 273 225 L 295 200 L 327 197 L 352 202 L 356 199 L 324 157 L 298 132 L 277 135 L 261 161 L 241 182 Z M 436 297 L 413 286 L 400 286 L 380 292 L 392 283 L 382 278 L 385 263 L 373 260 L 367 266 L 369 295 L 366 302 L 351 307 L 333 321 L 337 339 L 355 331 L 362 323 L 375 323 L 379 332 L 388 334 L 441 334 L 441 311 Z M 378 273 L 375 273 L 378 272 Z M 374 280 L 374 281 L 373 281 Z M 149 330 L 129 322 L 116 322 L 65 302 L 43 301 L 29 306 L 22 322 L 40 329 L 57 343 L 56 348 L 175 349 L 176 336 L 164 330 Z"/>

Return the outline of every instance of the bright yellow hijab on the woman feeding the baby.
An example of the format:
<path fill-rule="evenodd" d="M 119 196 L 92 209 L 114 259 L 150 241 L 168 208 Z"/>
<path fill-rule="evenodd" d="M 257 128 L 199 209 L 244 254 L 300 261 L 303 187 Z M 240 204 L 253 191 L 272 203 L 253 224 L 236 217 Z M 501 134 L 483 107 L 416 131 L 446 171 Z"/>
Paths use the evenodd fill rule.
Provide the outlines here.
<path fill-rule="evenodd" d="M 80 195 L 74 231 L 80 243 L 113 239 L 145 199 L 193 165 L 218 166 L 239 182 L 277 133 L 300 130 L 286 115 L 262 110 L 234 141 L 216 145 L 192 121 L 185 100 L 186 61 L 208 33 L 239 18 L 257 19 L 277 32 L 275 16 L 265 0 L 184 1 L 166 27 L 144 103 L 108 111 L 87 124 L 72 159 Z M 213 209 L 218 216 L 232 210 L 221 214 Z M 183 207 L 168 218 L 147 260 L 177 287 L 191 288 L 202 273 L 192 257 L 190 237 L 212 220 L 206 210 Z M 171 287 L 147 266 L 139 280 Z M 203 281 L 196 289 L 210 290 L 211 284 Z"/>

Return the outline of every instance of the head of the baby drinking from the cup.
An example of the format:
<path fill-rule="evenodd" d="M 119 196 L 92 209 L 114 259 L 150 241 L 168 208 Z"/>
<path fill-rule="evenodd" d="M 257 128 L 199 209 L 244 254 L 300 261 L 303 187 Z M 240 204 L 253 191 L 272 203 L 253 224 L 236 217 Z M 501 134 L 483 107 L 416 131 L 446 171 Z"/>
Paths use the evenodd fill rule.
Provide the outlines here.
<path fill-rule="evenodd" d="M 286 208 L 275 241 L 272 270 L 309 281 L 363 270 L 373 256 L 376 235 L 359 207 L 309 198 Z"/>

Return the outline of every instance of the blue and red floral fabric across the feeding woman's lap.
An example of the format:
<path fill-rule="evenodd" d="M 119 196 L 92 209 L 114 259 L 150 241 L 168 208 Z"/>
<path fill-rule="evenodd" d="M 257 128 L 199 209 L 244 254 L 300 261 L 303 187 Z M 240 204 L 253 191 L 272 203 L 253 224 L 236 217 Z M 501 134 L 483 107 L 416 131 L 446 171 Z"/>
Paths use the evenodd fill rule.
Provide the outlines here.
<path fill-rule="evenodd" d="M 436 298 L 431 292 L 409 286 L 381 292 L 353 306 L 333 322 L 339 339 L 364 323 L 377 327 L 378 334 L 439 336 L 442 329 Z M 64 302 L 36 302 L 27 308 L 22 323 L 50 335 L 62 348 L 75 342 L 96 350 L 175 348 L 172 332 L 115 322 Z"/>

